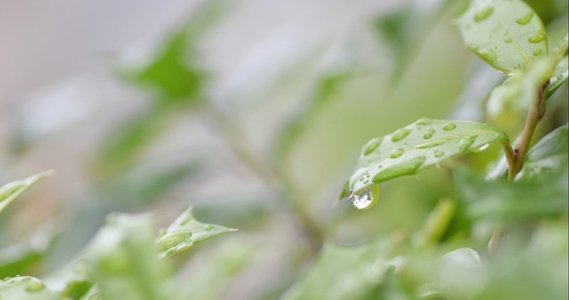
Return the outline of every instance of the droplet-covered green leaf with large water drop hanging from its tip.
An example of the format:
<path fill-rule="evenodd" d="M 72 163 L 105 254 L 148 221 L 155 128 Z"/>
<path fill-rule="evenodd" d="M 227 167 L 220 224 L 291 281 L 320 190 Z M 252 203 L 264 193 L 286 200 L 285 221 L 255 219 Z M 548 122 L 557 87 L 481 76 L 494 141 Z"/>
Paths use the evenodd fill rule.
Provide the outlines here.
<path fill-rule="evenodd" d="M 351 195 L 376 183 L 418 173 L 428 166 L 508 136 L 489 124 L 420 119 L 363 146 L 349 180 Z"/>

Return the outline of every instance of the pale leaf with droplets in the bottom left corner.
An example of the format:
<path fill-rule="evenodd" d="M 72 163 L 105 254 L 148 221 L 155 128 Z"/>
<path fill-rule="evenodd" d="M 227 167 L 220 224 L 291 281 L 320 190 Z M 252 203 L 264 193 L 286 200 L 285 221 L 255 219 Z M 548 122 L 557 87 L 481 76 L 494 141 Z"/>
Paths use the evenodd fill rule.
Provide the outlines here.
<path fill-rule="evenodd" d="M 55 300 L 58 297 L 40 279 L 20 276 L 0 280 L 0 299 Z"/>

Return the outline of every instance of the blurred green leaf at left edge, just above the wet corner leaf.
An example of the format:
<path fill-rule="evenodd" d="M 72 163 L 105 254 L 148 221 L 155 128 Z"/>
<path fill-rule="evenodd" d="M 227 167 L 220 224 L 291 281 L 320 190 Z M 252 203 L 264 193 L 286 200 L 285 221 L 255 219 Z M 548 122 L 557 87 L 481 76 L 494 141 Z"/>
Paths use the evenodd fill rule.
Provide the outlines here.
<path fill-rule="evenodd" d="M 50 225 L 41 226 L 25 242 L 0 250 L 0 278 L 29 274 L 32 268 L 38 267 L 57 237 Z"/>

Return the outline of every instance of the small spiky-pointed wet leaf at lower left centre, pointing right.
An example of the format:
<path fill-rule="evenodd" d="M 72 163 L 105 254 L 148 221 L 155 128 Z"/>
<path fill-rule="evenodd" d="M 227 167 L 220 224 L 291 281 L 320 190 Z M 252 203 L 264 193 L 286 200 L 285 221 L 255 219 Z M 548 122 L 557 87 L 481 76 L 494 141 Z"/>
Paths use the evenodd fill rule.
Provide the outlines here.
<path fill-rule="evenodd" d="M 158 256 L 169 257 L 188 250 L 197 242 L 230 231 L 235 231 L 235 229 L 199 222 L 193 218 L 192 208 L 188 208 L 156 240 Z"/>

